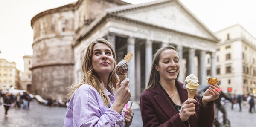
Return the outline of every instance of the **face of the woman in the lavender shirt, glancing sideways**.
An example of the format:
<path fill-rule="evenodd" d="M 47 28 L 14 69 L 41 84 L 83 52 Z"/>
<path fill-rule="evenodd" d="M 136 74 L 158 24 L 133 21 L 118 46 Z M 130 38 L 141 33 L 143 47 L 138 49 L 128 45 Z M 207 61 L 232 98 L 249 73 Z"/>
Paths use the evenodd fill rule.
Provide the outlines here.
<path fill-rule="evenodd" d="M 93 46 L 92 65 L 98 75 L 109 75 L 114 68 L 114 58 L 111 49 L 104 43 Z"/>

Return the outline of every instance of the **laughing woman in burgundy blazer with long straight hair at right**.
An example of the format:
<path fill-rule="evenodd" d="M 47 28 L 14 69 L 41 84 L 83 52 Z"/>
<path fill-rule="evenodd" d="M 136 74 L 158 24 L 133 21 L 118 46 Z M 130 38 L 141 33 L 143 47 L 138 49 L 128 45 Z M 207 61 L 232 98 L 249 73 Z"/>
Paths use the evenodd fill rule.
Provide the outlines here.
<path fill-rule="evenodd" d="M 165 46 L 155 53 L 147 89 L 140 97 L 143 127 L 211 127 L 216 84 L 198 100 L 188 99 L 186 86 L 177 81 L 180 63 L 177 49 Z"/>

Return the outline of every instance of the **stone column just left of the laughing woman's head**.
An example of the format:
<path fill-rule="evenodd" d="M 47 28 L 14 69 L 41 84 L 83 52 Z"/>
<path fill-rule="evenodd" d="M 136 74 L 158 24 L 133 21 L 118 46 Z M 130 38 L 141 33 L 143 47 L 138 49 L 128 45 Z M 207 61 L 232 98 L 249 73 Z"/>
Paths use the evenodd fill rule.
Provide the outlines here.
<path fill-rule="evenodd" d="M 153 57 L 153 51 L 152 51 L 152 40 L 146 40 L 145 43 L 145 87 L 148 85 L 148 79 L 150 76 L 150 70 L 152 65 L 152 57 Z"/>

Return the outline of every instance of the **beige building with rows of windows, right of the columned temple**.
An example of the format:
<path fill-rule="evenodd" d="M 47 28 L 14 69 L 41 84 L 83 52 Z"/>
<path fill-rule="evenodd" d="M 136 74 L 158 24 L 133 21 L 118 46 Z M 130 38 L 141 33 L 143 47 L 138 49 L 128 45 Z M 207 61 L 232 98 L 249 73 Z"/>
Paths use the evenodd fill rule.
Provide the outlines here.
<path fill-rule="evenodd" d="M 221 29 L 216 49 L 216 73 L 225 93 L 256 93 L 256 38 L 241 25 Z M 209 56 L 206 63 L 209 63 Z M 210 65 L 207 64 L 209 74 Z"/>

